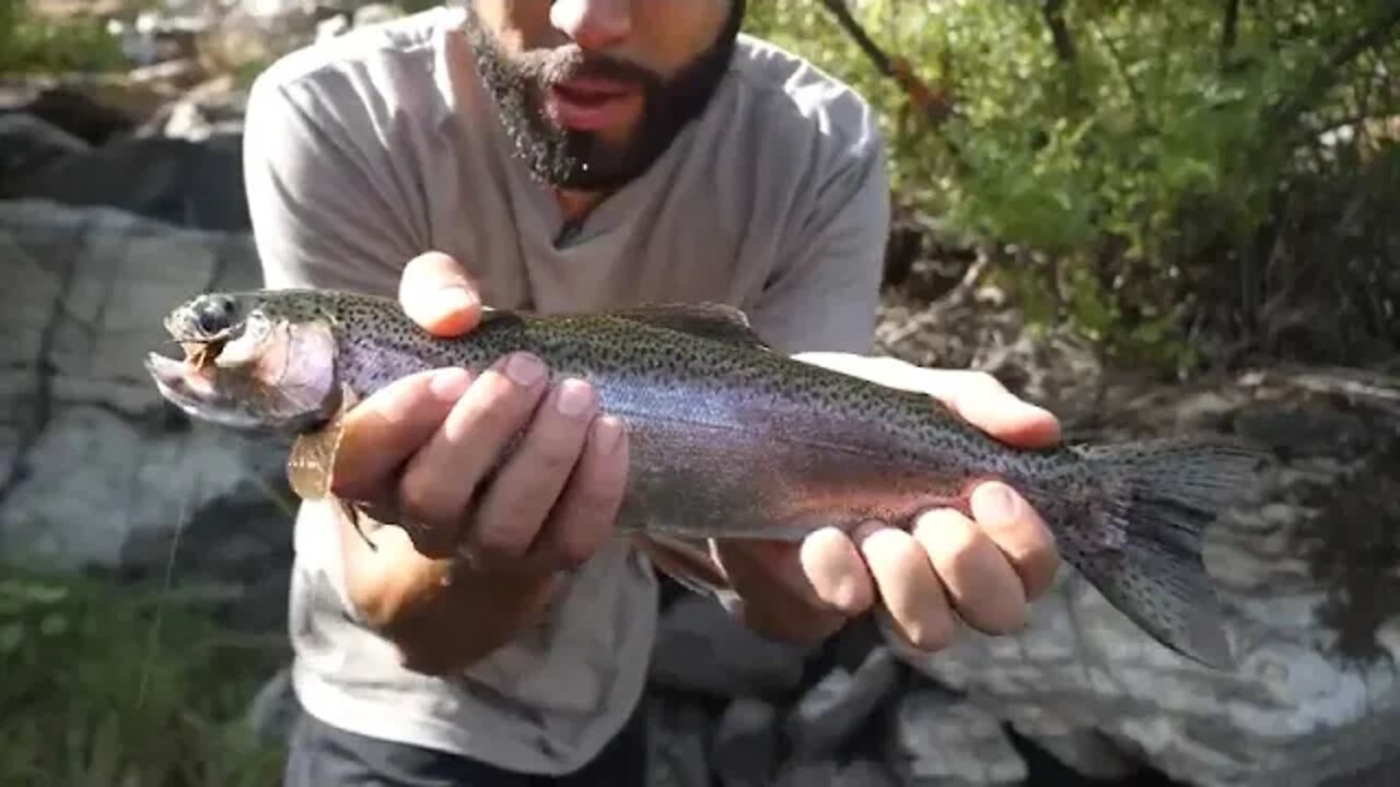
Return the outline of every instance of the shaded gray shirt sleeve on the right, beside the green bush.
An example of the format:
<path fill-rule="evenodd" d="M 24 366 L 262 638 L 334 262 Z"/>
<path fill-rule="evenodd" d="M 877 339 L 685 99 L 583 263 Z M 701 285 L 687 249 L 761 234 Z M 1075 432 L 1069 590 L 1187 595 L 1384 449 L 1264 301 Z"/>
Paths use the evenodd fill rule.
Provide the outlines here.
<path fill-rule="evenodd" d="M 867 111 L 868 112 L 868 111 Z M 869 353 L 889 237 L 883 141 L 867 113 L 857 143 L 813 179 L 809 209 L 790 227 L 756 307 L 755 329 L 788 353 Z"/>

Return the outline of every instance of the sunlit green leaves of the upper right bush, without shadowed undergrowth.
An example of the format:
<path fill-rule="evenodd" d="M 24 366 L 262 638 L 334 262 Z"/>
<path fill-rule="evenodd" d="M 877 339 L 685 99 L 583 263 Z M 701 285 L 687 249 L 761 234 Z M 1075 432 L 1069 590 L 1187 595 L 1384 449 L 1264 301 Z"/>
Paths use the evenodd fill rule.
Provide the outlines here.
<path fill-rule="evenodd" d="M 995 281 L 1033 323 L 1126 358 L 1190 365 L 1196 297 L 1260 263 L 1280 192 L 1319 162 L 1351 176 L 1323 132 L 1400 113 L 1386 0 L 847 1 L 951 116 L 913 118 L 822 3 L 752 3 L 749 29 L 875 101 L 896 192 L 993 248 Z"/>

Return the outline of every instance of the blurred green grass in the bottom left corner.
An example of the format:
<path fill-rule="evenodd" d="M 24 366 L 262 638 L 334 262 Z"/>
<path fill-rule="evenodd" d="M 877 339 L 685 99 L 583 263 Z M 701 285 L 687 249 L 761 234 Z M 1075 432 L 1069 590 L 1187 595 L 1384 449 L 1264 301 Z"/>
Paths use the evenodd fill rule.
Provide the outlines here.
<path fill-rule="evenodd" d="M 164 594 L 0 569 L 0 787 L 263 786 L 241 721 L 274 661 Z"/>

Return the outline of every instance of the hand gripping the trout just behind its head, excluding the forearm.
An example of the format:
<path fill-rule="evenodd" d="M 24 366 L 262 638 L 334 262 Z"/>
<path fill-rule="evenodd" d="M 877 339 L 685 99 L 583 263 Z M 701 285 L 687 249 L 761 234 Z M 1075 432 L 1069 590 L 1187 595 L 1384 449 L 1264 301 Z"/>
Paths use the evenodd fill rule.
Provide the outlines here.
<path fill-rule="evenodd" d="M 399 298 L 437 335 L 480 319 L 475 286 L 445 255 L 409 262 Z M 598 415 L 592 386 L 550 386 L 524 353 L 476 379 L 461 368 L 413 375 L 351 410 L 333 492 L 393 513 L 428 557 L 465 548 L 493 571 L 571 569 L 608 538 L 626 480 L 623 426 Z"/>

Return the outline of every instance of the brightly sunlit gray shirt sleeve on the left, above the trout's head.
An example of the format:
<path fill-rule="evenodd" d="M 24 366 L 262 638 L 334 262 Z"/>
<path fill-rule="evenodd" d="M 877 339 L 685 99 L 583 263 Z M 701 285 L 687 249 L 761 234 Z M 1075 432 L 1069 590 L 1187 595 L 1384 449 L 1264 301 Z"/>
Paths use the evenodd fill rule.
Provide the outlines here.
<path fill-rule="evenodd" d="M 353 92 L 343 74 L 312 87 L 276 66 L 249 91 L 244 178 L 267 287 L 392 295 L 405 263 L 424 251 L 421 206 Z"/>

